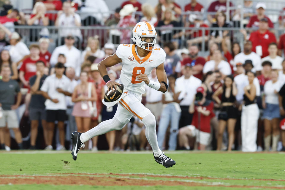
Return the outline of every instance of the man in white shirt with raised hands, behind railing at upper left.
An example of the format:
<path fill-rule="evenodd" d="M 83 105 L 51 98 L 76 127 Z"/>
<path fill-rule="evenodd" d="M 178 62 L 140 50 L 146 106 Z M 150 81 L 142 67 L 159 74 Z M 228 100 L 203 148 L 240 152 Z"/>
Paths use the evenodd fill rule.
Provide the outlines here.
<path fill-rule="evenodd" d="M 62 5 L 62 11 L 58 11 L 55 26 L 59 26 L 58 31 L 63 44 L 64 37 L 72 34 L 76 37 L 76 42 L 82 40 L 81 31 L 78 27 L 81 26 L 81 18 L 75 13 L 75 9 L 71 6 L 70 2 L 65 1 Z"/>

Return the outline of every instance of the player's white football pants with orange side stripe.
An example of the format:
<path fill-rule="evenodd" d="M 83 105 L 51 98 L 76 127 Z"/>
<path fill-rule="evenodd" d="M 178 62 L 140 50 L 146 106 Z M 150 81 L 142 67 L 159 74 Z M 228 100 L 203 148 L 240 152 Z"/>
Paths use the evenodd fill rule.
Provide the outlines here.
<path fill-rule="evenodd" d="M 129 93 L 120 99 L 115 117 L 123 124 L 127 124 L 134 115 L 140 120 L 151 113 L 141 102 L 141 95 Z"/>

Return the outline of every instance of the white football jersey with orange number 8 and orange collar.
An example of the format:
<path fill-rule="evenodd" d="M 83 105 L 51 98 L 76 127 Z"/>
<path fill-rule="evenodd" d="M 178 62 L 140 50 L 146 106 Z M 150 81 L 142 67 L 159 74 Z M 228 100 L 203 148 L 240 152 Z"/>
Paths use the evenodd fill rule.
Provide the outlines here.
<path fill-rule="evenodd" d="M 137 81 L 137 75 L 151 74 L 153 68 L 158 67 L 165 61 L 165 52 L 162 48 L 154 49 L 144 58 L 140 58 L 136 53 L 135 44 L 120 44 L 116 50 L 118 58 L 122 60 L 122 71 L 119 83 L 124 85 L 124 91 L 144 94 L 145 83 Z"/>

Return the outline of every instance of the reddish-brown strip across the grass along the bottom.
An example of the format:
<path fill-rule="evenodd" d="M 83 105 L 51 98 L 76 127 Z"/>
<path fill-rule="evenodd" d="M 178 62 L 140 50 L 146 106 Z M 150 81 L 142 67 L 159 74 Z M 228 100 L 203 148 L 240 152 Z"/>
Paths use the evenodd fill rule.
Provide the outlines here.
<path fill-rule="evenodd" d="M 118 177 L 114 177 L 118 176 Z M 213 186 L 213 187 L 238 187 L 238 188 L 267 188 L 285 189 L 285 187 L 272 186 L 243 186 L 243 185 L 211 185 L 207 183 L 186 182 L 186 181 L 166 181 L 159 179 L 129 178 L 132 174 L 60 174 L 60 175 L 0 175 L 0 184 L 51 184 L 51 185 L 92 185 L 92 186 Z M 139 177 L 164 178 L 161 175 L 135 175 Z M 179 177 L 179 176 L 168 176 Z"/>

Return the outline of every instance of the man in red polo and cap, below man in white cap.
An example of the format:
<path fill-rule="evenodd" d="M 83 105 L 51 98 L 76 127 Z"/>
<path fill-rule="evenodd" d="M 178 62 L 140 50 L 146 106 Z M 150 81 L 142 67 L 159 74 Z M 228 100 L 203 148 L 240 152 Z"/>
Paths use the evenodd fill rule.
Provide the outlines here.
<path fill-rule="evenodd" d="M 261 58 L 269 55 L 269 44 L 271 42 L 276 43 L 276 37 L 268 30 L 267 18 L 262 18 L 259 21 L 259 29 L 250 34 L 249 40 L 252 42 L 252 51 L 261 56 Z"/>

